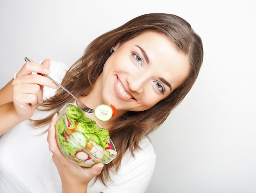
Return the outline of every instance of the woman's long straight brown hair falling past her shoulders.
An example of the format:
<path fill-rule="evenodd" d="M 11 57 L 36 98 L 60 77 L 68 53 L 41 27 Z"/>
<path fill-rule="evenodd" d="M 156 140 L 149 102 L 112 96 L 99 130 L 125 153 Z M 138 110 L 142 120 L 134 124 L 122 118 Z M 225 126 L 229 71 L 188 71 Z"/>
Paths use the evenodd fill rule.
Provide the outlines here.
<path fill-rule="evenodd" d="M 126 150 L 129 149 L 133 154 L 139 149 L 141 138 L 154 132 L 189 92 L 202 65 L 202 40 L 188 22 L 176 15 L 166 13 L 141 15 L 94 39 L 85 49 L 84 55 L 68 70 L 62 82 L 63 86 L 76 96 L 88 95 L 111 54 L 110 49 L 118 42 L 126 42 L 149 30 L 166 35 L 180 52 L 188 56 L 190 73 L 182 85 L 150 109 L 142 112 L 127 112 L 117 120 L 110 131 L 110 137 L 118 151 L 117 158 L 106 164 L 101 174 L 97 176 L 104 184 L 110 180 L 109 171 L 118 170 Z M 47 118 L 33 121 L 34 126 L 49 124 L 54 113 L 58 112 L 65 103 L 72 101 L 72 96 L 64 90 L 57 90 L 52 98 L 41 105 L 44 110 L 52 110 L 53 113 Z"/>

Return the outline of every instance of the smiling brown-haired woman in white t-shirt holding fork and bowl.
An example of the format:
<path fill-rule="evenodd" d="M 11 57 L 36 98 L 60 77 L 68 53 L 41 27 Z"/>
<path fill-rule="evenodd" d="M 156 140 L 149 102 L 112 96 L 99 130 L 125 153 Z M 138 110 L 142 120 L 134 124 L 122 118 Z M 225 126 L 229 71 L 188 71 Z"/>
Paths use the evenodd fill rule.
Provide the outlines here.
<path fill-rule="evenodd" d="M 11 186 L 16 184 L 19 189 L 37 192 L 38 187 L 44 192 L 59 192 L 61 186 L 66 192 L 86 192 L 86 189 L 97 193 L 145 192 L 155 166 L 155 153 L 148 134 L 154 132 L 184 99 L 198 77 L 202 59 L 202 41 L 189 23 L 176 15 L 151 13 L 96 38 L 66 74 L 65 67 L 54 70 L 54 66 L 59 69 L 62 64 L 51 62 L 51 76 L 61 81 L 65 74 L 62 85 L 79 96 L 85 105 L 95 108 L 104 103 L 117 109 L 110 121 L 101 123 L 110 132 L 118 151 L 117 158 L 103 169 L 101 164 L 90 169 L 78 167 L 60 153 L 52 132 L 56 112 L 74 100 L 62 89 L 55 93 L 45 87 L 43 91 L 43 86 L 56 88 L 56 85 L 46 77 L 31 74 L 48 74 L 49 60 L 43 61 L 42 65 L 26 63 L 16 79 L 0 92 L 1 98 L 6 98 L 0 109 L 11 109 L 5 119 L 15 118 L 15 121 L 4 123 L 1 130 L 2 133 L 9 131 L 0 139 L 0 180 L 3 181 L 0 185 L 4 190 L 10 188 L 9 183 Z M 10 97 L 11 84 L 13 97 Z M 37 107 L 40 110 L 36 110 Z M 33 120 L 29 123 L 39 129 L 27 129 L 24 120 L 31 116 Z M 45 134 L 40 135 L 40 132 L 46 132 L 49 123 L 47 140 L 53 157 L 49 150 L 45 150 Z M 33 144 L 32 147 L 17 142 L 20 137 Z M 14 141 L 16 144 L 13 145 Z M 18 164 L 13 169 L 10 162 L 6 163 L 6 160 L 15 159 L 15 155 L 5 158 L 2 155 L 17 145 L 22 149 L 19 151 L 20 167 L 26 162 L 33 163 L 33 167 L 22 170 Z M 29 158 L 24 156 L 25 153 L 31 154 Z M 34 158 L 35 155 L 40 159 Z M 49 158 L 54 160 L 61 181 Z M 40 163 L 44 169 L 39 168 Z M 37 179 L 28 177 L 33 172 L 37 174 L 33 178 Z M 94 175 L 97 176 L 91 180 Z"/>

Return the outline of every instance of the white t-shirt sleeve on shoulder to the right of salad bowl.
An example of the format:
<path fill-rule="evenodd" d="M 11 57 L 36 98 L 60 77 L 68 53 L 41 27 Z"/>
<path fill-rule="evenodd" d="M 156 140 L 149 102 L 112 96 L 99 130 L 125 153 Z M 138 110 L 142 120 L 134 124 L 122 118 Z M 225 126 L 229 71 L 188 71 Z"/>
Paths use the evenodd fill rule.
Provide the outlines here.
<path fill-rule="evenodd" d="M 148 142 L 149 143 L 149 142 Z M 152 145 L 136 152 L 135 158 L 124 156 L 118 175 L 103 193 L 144 193 L 155 169 L 155 152 Z"/>

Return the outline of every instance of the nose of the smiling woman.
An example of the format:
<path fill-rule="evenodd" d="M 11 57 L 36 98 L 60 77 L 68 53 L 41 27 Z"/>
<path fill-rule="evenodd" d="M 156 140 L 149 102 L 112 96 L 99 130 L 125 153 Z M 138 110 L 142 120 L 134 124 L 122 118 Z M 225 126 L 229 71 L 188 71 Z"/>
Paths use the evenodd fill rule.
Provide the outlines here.
<path fill-rule="evenodd" d="M 142 93 L 146 86 L 147 76 L 144 73 L 132 73 L 127 77 L 129 88 L 133 92 Z"/>

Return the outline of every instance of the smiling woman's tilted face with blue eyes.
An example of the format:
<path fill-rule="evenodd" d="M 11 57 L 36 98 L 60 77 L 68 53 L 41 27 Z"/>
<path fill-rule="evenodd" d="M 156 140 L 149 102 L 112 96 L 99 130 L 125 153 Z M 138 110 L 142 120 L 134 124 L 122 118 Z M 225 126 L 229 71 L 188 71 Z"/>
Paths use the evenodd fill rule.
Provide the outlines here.
<path fill-rule="evenodd" d="M 188 57 L 161 33 L 141 33 L 114 50 L 99 80 L 103 103 L 113 104 L 117 110 L 147 110 L 189 74 Z"/>

